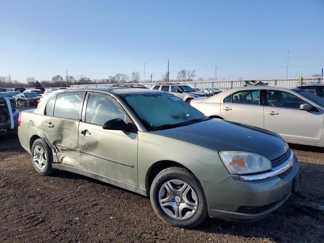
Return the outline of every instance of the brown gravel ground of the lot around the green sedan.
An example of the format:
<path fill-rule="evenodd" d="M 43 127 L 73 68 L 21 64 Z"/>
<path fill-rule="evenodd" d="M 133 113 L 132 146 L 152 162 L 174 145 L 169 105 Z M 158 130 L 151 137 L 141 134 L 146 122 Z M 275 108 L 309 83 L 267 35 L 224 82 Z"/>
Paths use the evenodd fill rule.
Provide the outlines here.
<path fill-rule="evenodd" d="M 291 145 L 298 194 L 267 218 L 206 219 L 187 230 L 155 216 L 148 198 L 68 172 L 38 175 L 17 138 L 0 137 L 0 242 L 323 242 L 324 149 Z"/>

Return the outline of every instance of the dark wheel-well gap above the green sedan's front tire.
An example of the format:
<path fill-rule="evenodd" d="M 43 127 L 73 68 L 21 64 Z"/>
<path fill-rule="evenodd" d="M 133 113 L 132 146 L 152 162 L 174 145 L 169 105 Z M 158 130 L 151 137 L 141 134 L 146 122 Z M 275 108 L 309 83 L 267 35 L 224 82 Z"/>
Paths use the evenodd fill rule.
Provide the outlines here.
<path fill-rule="evenodd" d="M 157 161 L 153 165 L 151 165 L 150 168 L 148 168 L 148 170 L 146 172 L 145 189 L 146 189 L 147 196 L 149 196 L 149 194 L 150 194 L 150 187 L 152 185 L 152 182 L 153 182 L 154 178 L 157 176 L 157 174 L 160 173 L 161 171 L 163 171 L 164 169 L 169 168 L 169 167 L 184 168 L 184 169 L 187 169 L 192 175 L 194 175 L 194 173 L 192 173 L 191 170 L 189 170 L 187 167 L 185 167 L 184 165 L 182 165 L 182 164 L 180 164 L 178 162 L 175 162 L 175 161 L 172 161 L 172 160 L 160 160 L 160 161 Z"/>

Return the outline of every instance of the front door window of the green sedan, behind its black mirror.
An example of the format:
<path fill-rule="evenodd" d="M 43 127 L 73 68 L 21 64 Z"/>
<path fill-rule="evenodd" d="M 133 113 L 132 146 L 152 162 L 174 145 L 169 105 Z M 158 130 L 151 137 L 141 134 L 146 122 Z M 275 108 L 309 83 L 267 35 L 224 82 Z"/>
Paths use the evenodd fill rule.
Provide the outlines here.
<path fill-rule="evenodd" d="M 86 123 L 104 125 L 106 121 L 112 119 L 122 119 L 129 123 L 130 119 L 125 112 L 109 96 L 90 94 L 87 109 Z"/>

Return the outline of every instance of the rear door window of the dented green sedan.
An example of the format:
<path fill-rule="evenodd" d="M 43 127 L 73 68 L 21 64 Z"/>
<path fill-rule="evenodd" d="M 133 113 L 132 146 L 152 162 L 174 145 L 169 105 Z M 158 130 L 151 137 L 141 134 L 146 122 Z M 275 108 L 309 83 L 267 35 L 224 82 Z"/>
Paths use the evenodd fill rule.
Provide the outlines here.
<path fill-rule="evenodd" d="M 65 93 L 57 95 L 54 106 L 54 116 L 77 119 L 82 93 Z"/>

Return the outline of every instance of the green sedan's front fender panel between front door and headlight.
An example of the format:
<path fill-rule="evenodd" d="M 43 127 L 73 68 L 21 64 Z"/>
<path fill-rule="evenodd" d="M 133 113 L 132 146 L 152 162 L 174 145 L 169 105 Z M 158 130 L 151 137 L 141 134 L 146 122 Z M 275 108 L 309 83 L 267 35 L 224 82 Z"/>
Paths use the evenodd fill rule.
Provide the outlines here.
<path fill-rule="evenodd" d="M 174 161 L 195 177 L 218 181 L 228 175 L 217 152 L 149 132 L 138 133 L 138 183 L 145 188 L 149 168 L 157 161 Z"/>

